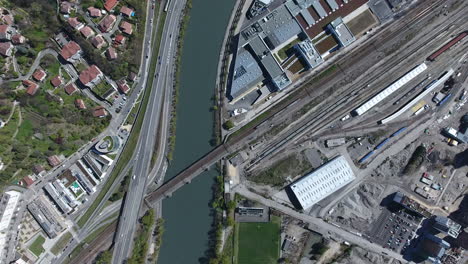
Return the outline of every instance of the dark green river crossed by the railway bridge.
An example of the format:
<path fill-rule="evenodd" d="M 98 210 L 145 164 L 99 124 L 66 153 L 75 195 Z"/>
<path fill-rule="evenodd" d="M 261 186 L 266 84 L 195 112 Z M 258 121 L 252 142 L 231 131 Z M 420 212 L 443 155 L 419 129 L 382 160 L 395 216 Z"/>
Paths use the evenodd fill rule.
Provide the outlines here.
<path fill-rule="evenodd" d="M 174 1 L 174 0 L 173 0 Z M 166 180 L 210 151 L 219 52 L 234 0 L 193 0 L 184 39 L 174 159 Z M 213 217 L 209 202 L 217 172 L 210 170 L 163 201 L 165 233 L 159 264 L 203 262 Z"/>

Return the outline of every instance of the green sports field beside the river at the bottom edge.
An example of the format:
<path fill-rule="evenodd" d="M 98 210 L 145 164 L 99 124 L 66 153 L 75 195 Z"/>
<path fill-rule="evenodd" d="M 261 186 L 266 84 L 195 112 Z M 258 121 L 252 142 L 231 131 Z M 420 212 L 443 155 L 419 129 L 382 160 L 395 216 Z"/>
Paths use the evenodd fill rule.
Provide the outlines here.
<path fill-rule="evenodd" d="M 239 223 L 236 225 L 237 263 L 277 263 L 280 247 L 281 219 L 271 216 L 269 223 Z"/>

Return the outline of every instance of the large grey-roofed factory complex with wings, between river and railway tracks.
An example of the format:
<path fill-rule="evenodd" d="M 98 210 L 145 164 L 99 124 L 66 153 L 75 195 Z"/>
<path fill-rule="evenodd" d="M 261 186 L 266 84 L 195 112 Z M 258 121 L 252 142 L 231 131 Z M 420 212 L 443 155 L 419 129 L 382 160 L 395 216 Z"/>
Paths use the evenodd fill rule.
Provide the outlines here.
<path fill-rule="evenodd" d="M 244 98 L 255 89 L 268 87 L 281 91 L 291 84 L 291 77 L 275 56 L 281 48 L 298 37 L 304 39 L 295 46 L 309 68 L 323 62 L 311 39 L 324 28 L 331 31 L 340 46 L 355 41 L 342 17 L 363 6 L 368 0 L 255 0 L 238 36 L 237 52 L 227 89 L 231 103 Z M 327 26 L 329 21 L 331 24 Z"/>

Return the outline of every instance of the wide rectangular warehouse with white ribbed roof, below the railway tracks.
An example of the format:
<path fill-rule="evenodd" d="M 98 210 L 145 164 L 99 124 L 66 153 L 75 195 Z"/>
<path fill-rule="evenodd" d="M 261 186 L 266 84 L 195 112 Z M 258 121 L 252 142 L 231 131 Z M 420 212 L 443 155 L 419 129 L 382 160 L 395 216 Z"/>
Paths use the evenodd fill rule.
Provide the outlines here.
<path fill-rule="evenodd" d="M 292 183 L 288 188 L 294 194 L 291 201 L 304 210 L 308 209 L 355 178 L 346 159 L 338 156 Z"/>

